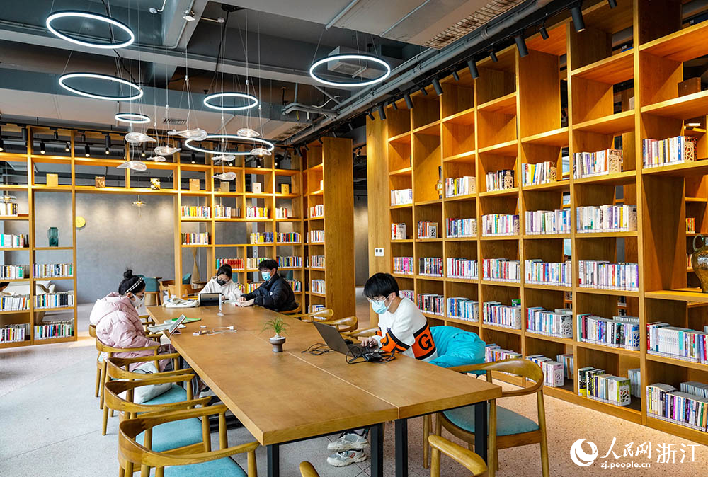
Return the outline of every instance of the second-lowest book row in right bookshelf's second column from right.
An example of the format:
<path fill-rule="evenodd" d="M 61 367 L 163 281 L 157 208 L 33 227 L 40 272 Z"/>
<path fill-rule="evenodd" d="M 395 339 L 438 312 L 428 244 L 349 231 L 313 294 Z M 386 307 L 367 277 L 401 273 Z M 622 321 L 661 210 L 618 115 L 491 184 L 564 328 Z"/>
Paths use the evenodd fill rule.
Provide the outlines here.
<path fill-rule="evenodd" d="M 578 314 L 578 341 L 639 350 L 639 317 L 612 316 L 610 319 L 589 313 Z"/>

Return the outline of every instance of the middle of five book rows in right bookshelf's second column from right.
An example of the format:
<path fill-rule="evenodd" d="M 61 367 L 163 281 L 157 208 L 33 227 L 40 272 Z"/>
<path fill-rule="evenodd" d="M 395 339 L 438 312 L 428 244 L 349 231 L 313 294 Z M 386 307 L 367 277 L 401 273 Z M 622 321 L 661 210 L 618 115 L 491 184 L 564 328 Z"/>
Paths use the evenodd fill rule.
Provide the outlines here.
<path fill-rule="evenodd" d="M 607 260 L 579 260 L 578 284 L 583 288 L 639 290 L 639 265 Z"/>

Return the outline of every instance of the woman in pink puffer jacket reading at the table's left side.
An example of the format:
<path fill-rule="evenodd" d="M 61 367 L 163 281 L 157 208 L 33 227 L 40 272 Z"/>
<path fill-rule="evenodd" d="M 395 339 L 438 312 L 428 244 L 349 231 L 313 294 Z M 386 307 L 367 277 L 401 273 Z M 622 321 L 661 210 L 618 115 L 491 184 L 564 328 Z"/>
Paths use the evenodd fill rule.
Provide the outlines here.
<path fill-rule="evenodd" d="M 118 293 L 110 293 L 96 301 L 89 318 L 96 326 L 96 336 L 102 343 L 112 347 L 131 348 L 160 345 L 159 342 L 145 336 L 137 309 L 142 306 L 145 297 L 145 282 L 141 277 L 126 270 L 118 287 Z M 158 353 L 174 352 L 170 345 L 163 345 Z M 116 357 L 138 357 L 154 355 L 152 350 L 115 353 Z M 105 356 L 103 356 L 105 359 Z M 142 363 L 133 363 L 130 370 Z M 170 360 L 160 361 L 160 371 L 171 364 Z"/>

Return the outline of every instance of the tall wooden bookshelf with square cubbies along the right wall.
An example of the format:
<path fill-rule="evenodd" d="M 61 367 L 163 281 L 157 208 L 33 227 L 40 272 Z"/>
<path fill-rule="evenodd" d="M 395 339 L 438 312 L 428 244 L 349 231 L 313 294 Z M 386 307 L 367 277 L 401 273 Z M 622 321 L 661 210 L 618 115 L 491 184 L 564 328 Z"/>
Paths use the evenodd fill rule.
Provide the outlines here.
<path fill-rule="evenodd" d="M 479 321 L 447 316 L 445 308 L 442 316 L 424 313 L 431 325 L 474 331 L 486 343 L 523 356 L 555 359 L 572 353 L 576 370 L 593 366 L 627 377 L 628 369 L 641 369 L 641 396 L 655 383 L 678 388 L 683 381 L 708 382 L 708 363 L 656 355 L 646 344 L 647 323 L 666 322 L 697 331 L 708 325 L 708 294 L 700 292 L 697 276 L 687 265 L 693 238 L 708 233 L 708 92 L 679 86 L 690 79 L 685 62 L 708 54 L 708 22 L 682 25 L 681 3 L 634 0 L 610 10 L 605 1 L 586 2 L 583 32 L 576 33 L 571 20 L 547 25 L 547 40 L 539 34 L 527 38 L 527 57 L 519 57 L 515 47 L 498 51 L 498 62 L 491 58 L 477 62 L 478 79 L 466 69 L 458 71 L 459 81 L 440 79 L 441 96 L 430 88 L 427 95 L 416 91 L 412 110 L 398 100 L 398 110 L 387 108 L 387 120 L 367 120 L 370 204 L 390 204 L 390 190 L 413 190 L 412 205 L 390 206 L 388 222 L 380 222 L 389 238 L 387 226 L 406 223 L 409 240 L 374 234 L 377 243 L 385 243 L 372 246 L 384 246 L 386 256 L 370 259 L 370 272 L 392 271 L 393 258 L 414 257 L 413 275 L 395 275 L 401 289 L 412 289 L 416 298 L 440 294 L 445 304 L 453 297 L 479 302 Z M 612 35 L 627 29 L 631 38 L 613 48 Z M 644 139 L 680 135 L 695 139 L 695 161 L 644 165 Z M 620 171 L 573 177 L 573 154 L 605 149 L 622 149 Z M 554 166 L 555 180 L 523 183 L 523 168 L 539 164 Z M 514 171 L 513 183 L 488 190 L 486 173 L 501 169 Z M 388 173 L 388 180 L 375 178 L 382 172 Z M 463 176 L 476 178 L 476 190 L 464 197 L 447 197 L 445 180 Z M 436 188 L 439 178 L 442 197 Z M 636 205 L 636 231 L 578 231 L 577 208 L 601 205 Z M 570 229 L 549 234 L 527 231 L 525 213 L 542 210 L 569 212 Z M 380 214 L 380 207 L 370 205 L 372 214 Z M 519 234 L 483 234 L 482 217 L 488 214 L 518 214 Z M 694 233 L 686 231 L 687 217 L 695 219 Z M 447 219 L 476 219 L 478 233 L 448 237 Z M 439 220 L 440 240 L 418 240 L 419 220 Z M 444 259 L 444 277 L 419 273 L 418 259 L 433 256 Z M 451 277 L 447 258 L 478 260 L 479 277 Z M 520 260 L 521 282 L 485 279 L 484 260 L 493 258 Z M 572 285 L 526 282 L 525 260 L 532 259 L 570 261 Z M 581 287 L 578 267 L 583 260 L 638 263 L 639 287 Z M 513 299 L 521 301 L 522 329 L 484 323 L 485 302 L 508 305 Z M 534 306 L 551 311 L 572 307 L 573 337 L 526 331 L 525 310 Z M 581 341 L 576 315 L 585 313 L 639 317 L 640 349 Z M 576 381 L 566 379 L 565 386 L 546 387 L 545 392 L 708 444 L 706 432 L 654 418 L 645 397 L 632 397 L 629 406 L 615 406 L 578 396 Z"/>

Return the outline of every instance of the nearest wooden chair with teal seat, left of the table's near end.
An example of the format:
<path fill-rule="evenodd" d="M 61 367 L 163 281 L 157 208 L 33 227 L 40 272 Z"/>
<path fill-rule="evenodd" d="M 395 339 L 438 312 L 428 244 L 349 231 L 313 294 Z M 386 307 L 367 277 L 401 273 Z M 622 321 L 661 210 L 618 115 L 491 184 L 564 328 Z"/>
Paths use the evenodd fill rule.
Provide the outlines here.
<path fill-rule="evenodd" d="M 118 425 L 118 461 L 122 474 L 132 476 L 133 469 L 139 466 L 142 476 L 149 476 L 155 468 L 156 477 L 164 477 L 166 466 L 193 466 L 183 468 L 180 475 L 200 472 L 200 475 L 223 476 L 239 475 L 242 471 L 229 456 L 247 454 L 248 476 L 258 477 L 256 470 L 256 449 L 258 442 L 249 442 L 235 447 L 228 447 L 226 430 L 226 411 L 223 405 L 204 408 L 176 410 L 169 413 L 150 413 L 139 418 L 127 419 Z M 219 450 L 212 451 L 208 416 L 219 416 Z M 202 421 L 202 442 L 195 452 L 165 451 L 152 449 L 153 429 L 158 425 L 175 423 L 179 420 L 199 418 Z M 144 433 L 144 443 L 136 438 Z"/>

